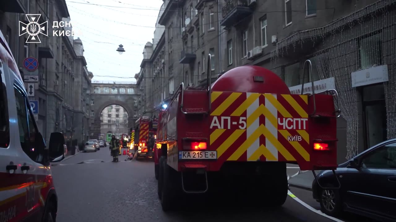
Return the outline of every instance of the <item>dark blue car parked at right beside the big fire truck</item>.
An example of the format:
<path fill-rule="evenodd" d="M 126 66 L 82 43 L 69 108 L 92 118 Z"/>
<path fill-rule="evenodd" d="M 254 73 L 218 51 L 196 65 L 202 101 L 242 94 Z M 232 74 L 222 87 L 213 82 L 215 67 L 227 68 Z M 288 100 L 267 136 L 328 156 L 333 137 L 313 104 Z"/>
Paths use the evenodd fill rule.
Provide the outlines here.
<path fill-rule="evenodd" d="M 396 139 L 340 164 L 335 173 L 339 189 L 333 188 L 339 184 L 331 170 L 317 174 L 320 186 L 316 180 L 312 182 L 313 198 L 324 213 L 338 216 L 348 211 L 374 220 L 396 221 Z"/>

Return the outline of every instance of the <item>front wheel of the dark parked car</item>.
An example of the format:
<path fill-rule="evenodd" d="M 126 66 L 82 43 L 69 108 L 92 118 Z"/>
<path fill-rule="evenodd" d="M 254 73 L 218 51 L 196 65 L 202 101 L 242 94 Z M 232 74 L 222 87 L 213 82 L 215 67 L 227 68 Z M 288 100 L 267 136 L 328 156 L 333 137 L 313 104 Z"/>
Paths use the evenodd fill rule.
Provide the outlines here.
<path fill-rule="evenodd" d="M 320 209 L 329 216 L 338 216 L 342 210 L 342 201 L 338 190 L 320 191 Z"/>

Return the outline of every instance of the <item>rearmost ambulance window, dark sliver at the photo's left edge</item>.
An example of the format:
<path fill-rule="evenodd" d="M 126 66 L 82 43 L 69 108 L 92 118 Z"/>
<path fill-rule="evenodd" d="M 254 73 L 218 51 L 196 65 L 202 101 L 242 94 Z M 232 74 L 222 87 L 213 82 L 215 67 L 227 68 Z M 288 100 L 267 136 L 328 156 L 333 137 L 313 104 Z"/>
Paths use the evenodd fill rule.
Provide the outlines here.
<path fill-rule="evenodd" d="M 4 70 L 0 67 L 0 147 L 10 145 L 10 119 L 8 118 L 8 100 Z"/>

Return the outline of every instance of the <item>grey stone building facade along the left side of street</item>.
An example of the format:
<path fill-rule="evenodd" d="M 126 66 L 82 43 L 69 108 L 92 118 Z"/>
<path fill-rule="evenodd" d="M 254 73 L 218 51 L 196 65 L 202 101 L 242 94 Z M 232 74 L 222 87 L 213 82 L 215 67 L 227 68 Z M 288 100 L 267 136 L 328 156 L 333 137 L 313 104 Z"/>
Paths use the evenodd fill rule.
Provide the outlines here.
<path fill-rule="evenodd" d="M 40 35 L 41 42 L 26 43 L 28 35 L 19 36 L 19 21 L 28 23 L 25 14 L 40 14 L 40 21 L 48 21 L 48 37 Z M 83 88 L 85 85 L 89 91 L 92 73 L 86 68 L 81 41 L 73 40 L 72 36 L 52 36 L 53 21 L 70 21 L 65 0 L 10 0 L 0 4 L 0 29 L 22 77 L 38 76 L 34 96 L 29 100 L 38 102 L 36 121 L 44 139 L 48 141 L 51 132 L 63 132 L 67 141 L 73 140 L 77 145 L 88 135 L 89 121 L 86 117 L 81 121 L 84 108 L 80 100 L 87 96 Z M 59 27 L 59 30 L 65 28 L 71 27 Z M 36 71 L 23 68 L 27 57 L 38 60 Z"/>

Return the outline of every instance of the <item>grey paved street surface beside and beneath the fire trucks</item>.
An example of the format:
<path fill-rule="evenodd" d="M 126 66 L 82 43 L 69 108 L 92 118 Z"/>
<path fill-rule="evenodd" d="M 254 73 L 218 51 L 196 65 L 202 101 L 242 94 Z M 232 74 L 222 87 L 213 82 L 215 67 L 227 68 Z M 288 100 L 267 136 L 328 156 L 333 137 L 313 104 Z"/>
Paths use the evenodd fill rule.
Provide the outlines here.
<path fill-rule="evenodd" d="M 156 193 L 153 162 L 144 160 L 111 162 L 108 147 L 97 152 L 78 153 L 52 167 L 58 194 L 58 222 L 185 222 L 185 221 L 277 221 L 329 222 L 329 218 L 308 210 L 290 196 L 279 209 L 263 209 L 240 203 L 211 205 L 200 202 L 189 209 L 164 213 Z M 288 165 L 289 166 L 289 165 Z M 291 165 L 290 167 L 295 167 Z M 298 169 L 288 168 L 288 174 Z M 299 199 L 318 209 L 306 190 L 291 188 Z"/>

